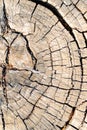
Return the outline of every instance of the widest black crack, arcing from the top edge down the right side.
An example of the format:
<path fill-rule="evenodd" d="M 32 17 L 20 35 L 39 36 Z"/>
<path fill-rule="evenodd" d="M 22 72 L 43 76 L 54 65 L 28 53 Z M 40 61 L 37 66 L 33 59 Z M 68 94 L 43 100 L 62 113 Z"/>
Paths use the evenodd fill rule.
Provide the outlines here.
<path fill-rule="evenodd" d="M 81 84 L 80 84 L 80 89 L 82 88 L 82 83 L 83 83 L 83 62 L 82 62 L 82 56 L 81 56 L 81 52 L 80 52 L 80 47 L 78 44 L 78 41 L 73 33 L 72 28 L 69 26 L 69 24 L 64 20 L 63 16 L 58 12 L 58 10 L 51 5 L 48 2 L 44 2 L 41 0 L 31 0 L 34 3 L 40 4 L 41 6 L 46 7 L 47 9 L 49 9 L 57 18 L 58 20 L 61 22 L 61 24 L 63 25 L 63 27 L 70 33 L 70 35 L 72 36 L 72 38 L 74 39 L 74 41 L 76 42 L 77 48 L 78 48 L 78 54 L 79 54 L 79 58 L 80 58 L 80 67 L 81 67 Z M 78 99 L 80 97 L 80 92 L 79 92 L 79 96 Z M 78 102 L 78 100 L 77 100 Z M 76 102 L 76 104 L 77 104 Z"/>

